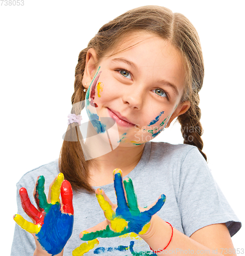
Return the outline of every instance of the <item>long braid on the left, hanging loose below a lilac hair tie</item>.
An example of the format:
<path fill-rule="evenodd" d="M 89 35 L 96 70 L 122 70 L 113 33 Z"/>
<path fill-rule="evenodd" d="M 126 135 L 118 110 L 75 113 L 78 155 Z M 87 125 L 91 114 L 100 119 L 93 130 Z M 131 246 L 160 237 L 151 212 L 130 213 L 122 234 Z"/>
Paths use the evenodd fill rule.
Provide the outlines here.
<path fill-rule="evenodd" d="M 86 53 L 88 48 L 82 50 L 78 57 L 75 70 L 74 93 L 72 95 L 72 114 L 79 115 L 84 108 L 86 93 L 83 91 L 82 78 L 84 74 Z M 88 161 L 85 160 L 81 143 L 82 134 L 75 123 L 71 123 L 65 133 L 65 138 L 60 151 L 59 169 L 64 174 L 74 190 L 80 188 L 94 193 L 93 187 L 88 182 Z"/>

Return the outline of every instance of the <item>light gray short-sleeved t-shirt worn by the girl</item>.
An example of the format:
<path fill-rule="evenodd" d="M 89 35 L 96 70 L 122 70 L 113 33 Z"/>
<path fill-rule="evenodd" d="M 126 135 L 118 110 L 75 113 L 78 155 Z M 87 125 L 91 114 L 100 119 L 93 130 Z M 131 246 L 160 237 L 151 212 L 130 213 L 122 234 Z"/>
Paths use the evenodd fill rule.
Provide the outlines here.
<path fill-rule="evenodd" d="M 21 207 L 19 188 L 27 189 L 35 205 L 32 195 L 37 177 L 43 175 L 46 179 L 45 191 L 48 195 L 49 185 L 58 173 L 56 160 L 31 170 L 19 180 L 18 214 L 31 221 Z M 205 159 L 195 146 L 147 142 L 141 160 L 126 177 L 132 179 L 141 207 L 149 206 L 161 194 L 165 194 L 166 202 L 158 215 L 188 237 L 211 224 L 226 223 L 231 236 L 241 227 L 240 221 L 215 183 Z M 113 183 L 101 188 L 113 203 L 117 202 Z M 105 219 L 94 194 L 86 191 L 74 192 L 73 205 L 73 233 L 65 245 L 64 256 L 71 256 L 72 251 L 84 242 L 79 239 L 81 231 Z M 152 255 L 147 243 L 139 237 L 128 235 L 98 240 L 99 245 L 84 255 Z M 33 255 L 34 250 L 35 242 L 31 234 L 16 224 L 11 255 Z"/>

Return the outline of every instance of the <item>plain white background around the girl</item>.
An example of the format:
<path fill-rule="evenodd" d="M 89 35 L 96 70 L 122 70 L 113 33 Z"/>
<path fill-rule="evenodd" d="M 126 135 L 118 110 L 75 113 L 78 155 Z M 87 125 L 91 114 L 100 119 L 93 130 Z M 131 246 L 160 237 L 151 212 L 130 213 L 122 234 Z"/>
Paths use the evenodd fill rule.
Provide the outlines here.
<path fill-rule="evenodd" d="M 199 33 L 205 60 L 200 93 L 203 151 L 217 183 L 245 223 L 242 2 L 24 0 L 24 6 L 0 2 L 1 255 L 10 254 L 16 182 L 32 168 L 59 157 L 79 52 L 103 24 L 143 5 L 181 12 Z M 179 124 L 155 140 L 182 143 Z M 232 240 L 235 248 L 245 247 L 244 227 Z"/>

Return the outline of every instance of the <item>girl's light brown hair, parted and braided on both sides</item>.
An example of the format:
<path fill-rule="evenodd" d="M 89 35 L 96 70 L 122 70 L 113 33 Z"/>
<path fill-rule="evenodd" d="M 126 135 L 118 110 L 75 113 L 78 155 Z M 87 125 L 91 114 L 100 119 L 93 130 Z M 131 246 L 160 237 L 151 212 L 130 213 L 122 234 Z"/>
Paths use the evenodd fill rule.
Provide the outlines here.
<path fill-rule="evenodd" d="M 182 101 L 190 101 L 190 108 L 185 114 L 177 117 L 177 120 L 181 124 L 184 143 L 197 146 L 207 160 L 206 155 L 202 152 L 203 140 L 201 135 L 203 128 L 200 122 L 201 110 L 198 107 L 198 92 L 202 88 L 204 79 L 203 54 L 195 28 L 180 13 L 173 13 L 171 10 L 160 6 L 143 6 L 127 11 L 102 26 L 88 43 L 87 48 L 79 54 L 75 70 L 72 104 L 85 99 L 82 78 L 88 49 L 95 49 L 97 58 L 100 60 L 108 52 L 115 49 L 123 37 L 137 31 L 150 32 L 167 39 L 181 52 L 186 68 L 186 84 Z M 73 109 L 72 113 L 78 115 L 80 111 L 81 109 Z M 76 129 L 75 136 L 80 136 L 79 129 Z M 59 168 L 74 189 L 84 188 L 89 192 L 94 191 L 88 182 L 87 167 L 88 161 L 84 159 L 79 140 L 64 140 L 60 152 Z"/>

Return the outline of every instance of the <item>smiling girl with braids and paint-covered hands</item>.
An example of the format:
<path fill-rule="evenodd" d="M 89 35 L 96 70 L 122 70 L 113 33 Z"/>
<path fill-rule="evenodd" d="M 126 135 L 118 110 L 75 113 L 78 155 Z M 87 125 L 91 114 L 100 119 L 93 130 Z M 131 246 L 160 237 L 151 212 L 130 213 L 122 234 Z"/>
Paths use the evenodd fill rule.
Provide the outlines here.
<path fill-rule="evenodd" d="M 75 115 L 69 117 L 59 161 L 32 170 L 17 185 L 30 191 L 42 175 L 34 193 L 38 210 L 20 189 L 36 224 L 26 229 L 35 240 L 16 226 L 12 255 L 220 255 L 222 248 L 235 254 L 231 236 L 241 223 L 202 152 L 203 78 L 198 35 L 182 14 L 147 6 L 104 25 L 78 58 Z M 90 119 L 86 139 L 83 124 L 78 129 L 84 106 Z M 149 141 L 176 117 L 184 144 Z M 70 183 L 62 183 L 62 174 L 52 182 L 59 172 L 73 188 L 72 234 Z M 43 176 L 51 183 L 49 203 Z M 18 212 L 28 219 L 19 200 Z M 14 219 L 24 227 L 19 216 Z M 79 236 L 92 242 L 81 245 Z"/>

